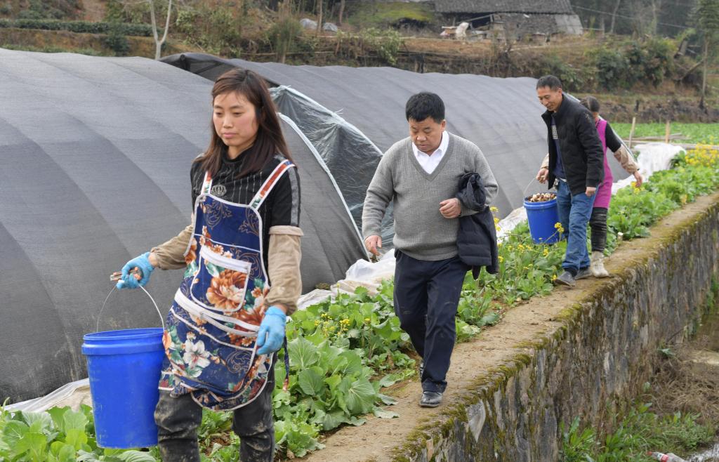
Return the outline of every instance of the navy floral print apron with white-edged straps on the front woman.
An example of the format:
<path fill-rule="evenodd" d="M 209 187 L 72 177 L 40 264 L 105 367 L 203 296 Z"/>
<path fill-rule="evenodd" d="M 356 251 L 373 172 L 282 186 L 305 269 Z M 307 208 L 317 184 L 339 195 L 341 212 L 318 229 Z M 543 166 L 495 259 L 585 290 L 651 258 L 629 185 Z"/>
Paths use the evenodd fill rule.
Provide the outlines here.
<path fill-rule="evenodd" d="M 191 393 L 212 410 L 232 410 L 265 388 L 273 355 L 257 355 L 255 346 L 270 291 L 258 210 L 292 167 L 289 160 L 280 163 L 249 205 L 212 195 L 212 179 L 205 175 L 185 254 L 188 266 L 162 337 L 160 389 L 173 396 Z"/>

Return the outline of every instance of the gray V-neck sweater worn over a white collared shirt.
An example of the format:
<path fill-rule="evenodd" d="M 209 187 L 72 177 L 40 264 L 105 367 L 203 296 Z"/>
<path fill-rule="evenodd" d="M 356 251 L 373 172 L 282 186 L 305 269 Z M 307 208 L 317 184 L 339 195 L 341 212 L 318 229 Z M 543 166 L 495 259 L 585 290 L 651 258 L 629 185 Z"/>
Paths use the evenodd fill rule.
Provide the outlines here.
<path fill-rule="evenodd" d="M 487 190 L 487 205 L 497 195 L 497 181 L 482 150 L 467 139 L 449 134 L 449 146 L 431 174 L 412 151 L 410 138 L 396 142 L 377 165 L 362 211 L 365 239 L 381 235 L 385 210 L 394 203 L 395 249 L 418 260 L 436 261 L 457 255 L 459 218 L 439 213 L 442 200 L 454 198 L 465 173 L 477 172 Z M 462 208 L 462 216 L 472 214 Z"/>

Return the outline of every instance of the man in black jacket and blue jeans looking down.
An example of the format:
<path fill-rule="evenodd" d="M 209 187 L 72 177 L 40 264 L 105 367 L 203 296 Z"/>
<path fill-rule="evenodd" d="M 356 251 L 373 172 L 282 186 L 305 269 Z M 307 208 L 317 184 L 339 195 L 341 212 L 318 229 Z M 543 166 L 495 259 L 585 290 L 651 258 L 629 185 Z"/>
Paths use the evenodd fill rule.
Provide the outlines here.
<path fill-rule="evenodd" d="M 576 279 L 590 276 L 587 252 L 587 223 L 597 188 L 604 180 L 604 152 L 597 127 L 587 109 L 562 93 L 562 82 L 554 75 L 537 80 L 537 96 L 546 112 L 549 169 L 542 168 L 537 180 L 557 182 L 559 221 L 567 236 L 564 272 L 558 284 L 573 286 Z"/>

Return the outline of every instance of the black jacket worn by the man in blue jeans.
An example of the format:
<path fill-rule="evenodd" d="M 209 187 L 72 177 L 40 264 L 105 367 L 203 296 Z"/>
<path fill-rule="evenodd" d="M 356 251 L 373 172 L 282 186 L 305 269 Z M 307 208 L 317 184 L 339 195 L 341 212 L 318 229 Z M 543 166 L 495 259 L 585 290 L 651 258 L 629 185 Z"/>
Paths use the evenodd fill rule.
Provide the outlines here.
<path fill-rule="evenodd" d="M 541 115 L 549 144 L 549 188 L 554 185 L 554 167 L 557 165 L 551 114 L 545 111 Z M 562 96 L 562 104 L 554 113 L 554 123 L 557 124 L 559 150 L 572 195 L 585 193 L 587 187 L 597 188 L 604 180 L 604 152 L 592 114 L 577 101 Z"/>

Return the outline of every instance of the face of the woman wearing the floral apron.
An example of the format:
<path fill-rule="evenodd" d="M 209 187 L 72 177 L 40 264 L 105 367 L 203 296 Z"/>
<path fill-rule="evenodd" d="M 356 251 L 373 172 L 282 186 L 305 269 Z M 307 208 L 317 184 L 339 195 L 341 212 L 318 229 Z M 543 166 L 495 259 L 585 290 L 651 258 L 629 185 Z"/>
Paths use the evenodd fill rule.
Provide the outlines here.
<path fill-rule="evenodd" d="M 257 137 L 255 105 L 242 93 L 222 93 L 213 103 L 212 123 L 217 136 L 227 145 L 231 159 L 252 146 Z"/>

